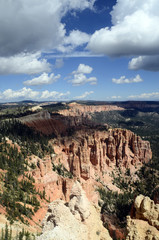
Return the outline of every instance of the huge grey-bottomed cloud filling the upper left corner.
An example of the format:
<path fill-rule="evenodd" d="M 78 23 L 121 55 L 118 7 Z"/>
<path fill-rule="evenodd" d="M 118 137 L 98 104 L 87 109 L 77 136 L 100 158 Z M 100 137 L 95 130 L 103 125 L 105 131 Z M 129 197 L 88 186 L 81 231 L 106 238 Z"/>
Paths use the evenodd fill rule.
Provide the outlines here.
<path fill-rule="evenodd" d="M 62 17 L 71 10 L 92 9 L 94 2 L 95 0 L 1 0 L 0 55 L 4 57 L 24 51 L 32 53 L 55 49 L 63 42 L 66 34 L 65 25 L 61 23 Z"/>

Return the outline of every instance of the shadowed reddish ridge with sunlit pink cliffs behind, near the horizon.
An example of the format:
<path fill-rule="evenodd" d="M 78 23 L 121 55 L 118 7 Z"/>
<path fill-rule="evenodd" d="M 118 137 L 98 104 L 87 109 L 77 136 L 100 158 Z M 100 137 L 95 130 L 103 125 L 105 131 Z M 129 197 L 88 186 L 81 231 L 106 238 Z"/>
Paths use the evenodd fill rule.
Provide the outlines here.
<path fill-rule="evenodd" d="M 77 103 L 68 104 L 69 109 L 59 110 L 52 114 L 43 110 L 35 114 L 19 118 L 19 120 L 29 127 L 33 127 L 36 131 L 46 135 L 54 134 L 68 135 L 72 132 L 72 128 L 87 126 L 88 128 L 96 126 L 91 121 L 91 113 L 100 111 L 123 110 L 116 105 L 98 105 L 88 106 Z"/>

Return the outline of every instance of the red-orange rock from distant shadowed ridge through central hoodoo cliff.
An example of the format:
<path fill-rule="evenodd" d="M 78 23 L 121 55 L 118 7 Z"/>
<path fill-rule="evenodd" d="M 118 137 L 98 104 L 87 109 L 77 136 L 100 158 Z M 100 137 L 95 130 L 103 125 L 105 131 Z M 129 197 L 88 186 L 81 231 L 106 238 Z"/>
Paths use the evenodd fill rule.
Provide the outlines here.
<path fill-rule="evenodd" d="M 112 171 L 119 167 L 134 169 L 135 166 L 148 162 L 152 157 L 150 144 L 128 130 L 98 130 L 91 122 L 89 112 L 110 110 L 108 106 L 99 108 L 76 105 L 71 109 L 61 111 L 63 115 L 51 116 L 44 111 L 21 118 L 28 126 L 47 135 L 54 133 L 57 136 L 51 140 L 55 150 L 52 160 L 50 156 L 43 160 L 35 158 L 37 168 L 31 173 L 35 178 L 36 188 L 41 192 L 45 190 L 46 198 L 50 201 L 69 201 L 74 180 L 78 179 L 88 199 L 97 203 L 98 193 L 95 189 L 106 185 L 117 190 L 112 184 Z M 59 163 L 72 173 L 74 179 L 59 176 L 53 171 L 53 165 L 57 166 Z M 37 218 L 40 218 L 39 211 L 35 215 L 35 219 Z"/>

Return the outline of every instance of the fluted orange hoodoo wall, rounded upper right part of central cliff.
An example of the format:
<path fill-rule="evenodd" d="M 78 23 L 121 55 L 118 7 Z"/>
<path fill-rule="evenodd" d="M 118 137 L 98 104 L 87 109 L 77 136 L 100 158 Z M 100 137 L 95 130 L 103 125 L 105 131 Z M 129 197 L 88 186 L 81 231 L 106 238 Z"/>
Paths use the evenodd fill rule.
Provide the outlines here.
<path fill-rule="evenodd" d="M 150 144 L 129 130 L 76 131 L 70 138 L 62 138 L 61 161 L 76 177 L 88 180 L 100 178 L 114 167 L 131 168 L 142 165 L 152 157 Z M 66 164 L 67 163 L 67 164 Z"/>

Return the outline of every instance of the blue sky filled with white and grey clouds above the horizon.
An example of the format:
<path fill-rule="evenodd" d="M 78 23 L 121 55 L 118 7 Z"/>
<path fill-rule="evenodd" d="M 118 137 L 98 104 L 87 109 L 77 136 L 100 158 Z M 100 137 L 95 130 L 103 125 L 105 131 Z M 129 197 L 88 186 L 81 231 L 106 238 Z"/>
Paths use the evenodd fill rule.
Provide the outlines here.
<path fill-rule="evenodd" d="M 0 0 L 0 102 L 159 100 L 158 0 Z"/>

